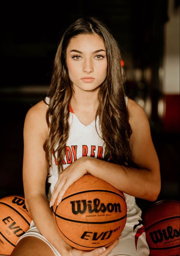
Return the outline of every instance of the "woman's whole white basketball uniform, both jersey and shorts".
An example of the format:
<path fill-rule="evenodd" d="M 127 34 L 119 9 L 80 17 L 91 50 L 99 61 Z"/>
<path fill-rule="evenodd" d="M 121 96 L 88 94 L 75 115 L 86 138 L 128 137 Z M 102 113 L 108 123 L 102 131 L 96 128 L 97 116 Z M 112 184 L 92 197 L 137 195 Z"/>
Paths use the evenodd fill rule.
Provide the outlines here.
<path fill-rule="evenodd" d="M 49 103 L 48 97 L 46 97 L 46 102 Z M 73 110 L 70 109 L 68 122 L 70 131 L 67 140 L 66 154 L 63 161 L 64 169 L 73 161 L 83 156 L 102 159 L 104 157 L 105 143 L 101 139 L 99 117 L 88 126 L 84 126 L 84 124 L 82 124 L 76 117 L 75 113 L 73 113 Z M 50 184 L 48 193 L 49 200 L 51 199 L 54 186 L 58 180 L 56 157 L 56 154 L 53 152 L 53 164 L 48 171 L 48 183 Z M 117 245 L 110 253 L 108 253 L 108 256 L 148 256 L 150 251 L 145 237 L 145 229 L 142 224 L 141 210 L 135 203 L 134 196 L 129 196 L 125 193 L 124 196 L 127 204 L 126 225 Z M 33 220 L 30 224 L 30 229 L 19 238 L 18 242 L 25 236 L 34 236 L 43 240 L 52 249 L 54 256 L 61 256 L 56 248 L 54 248 L 54 246 L 40 233 Z"/>

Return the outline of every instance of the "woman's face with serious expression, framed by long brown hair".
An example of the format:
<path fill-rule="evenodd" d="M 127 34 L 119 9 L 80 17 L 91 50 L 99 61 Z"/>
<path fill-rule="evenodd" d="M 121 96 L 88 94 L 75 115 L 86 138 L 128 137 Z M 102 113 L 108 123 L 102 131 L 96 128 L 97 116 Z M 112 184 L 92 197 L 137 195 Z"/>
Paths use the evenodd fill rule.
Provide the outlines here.
<path fill-rule="evenodd" d="M 67 47 L 66 61 L 74 89 L 98 89 L 106 78 L 106 49 L 97 34 L 80 34 L 72 38 Z"/>

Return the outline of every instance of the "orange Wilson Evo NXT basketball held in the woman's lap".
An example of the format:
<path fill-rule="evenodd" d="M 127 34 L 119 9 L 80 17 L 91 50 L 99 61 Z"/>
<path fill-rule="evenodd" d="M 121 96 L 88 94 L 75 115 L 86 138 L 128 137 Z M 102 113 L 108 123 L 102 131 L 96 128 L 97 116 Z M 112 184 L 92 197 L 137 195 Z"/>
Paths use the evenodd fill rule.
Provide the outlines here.
<path fill-rule="evenodd" d="M 72 247 L 92 250 L 111 245 L 127 218 L 124 194 L 109 183 L 85 174 L 54 204 L 53 216 L 61 237 Z"/>

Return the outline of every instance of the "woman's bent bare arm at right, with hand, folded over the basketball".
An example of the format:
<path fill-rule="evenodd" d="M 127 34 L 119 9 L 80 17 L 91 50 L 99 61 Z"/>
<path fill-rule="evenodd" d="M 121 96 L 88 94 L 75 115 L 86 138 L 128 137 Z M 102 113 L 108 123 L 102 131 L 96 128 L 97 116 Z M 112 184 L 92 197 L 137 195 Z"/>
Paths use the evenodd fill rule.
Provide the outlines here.
<path fill-rule="evenodd" d="M 52 205 L 64 192 L 85 173 L 112 184 L 129 195 L 155 201 L 161 188 L 159 161 L 150 134 L 150 125 L 145 111 L 134 101 L 128 100 L 129 123 L 132 129 L 130 148 L 135 163 L 141 169 L 124 167 L 92 157 L 82 157 L 73 162 L 60 175 L 51 198 Z"/>

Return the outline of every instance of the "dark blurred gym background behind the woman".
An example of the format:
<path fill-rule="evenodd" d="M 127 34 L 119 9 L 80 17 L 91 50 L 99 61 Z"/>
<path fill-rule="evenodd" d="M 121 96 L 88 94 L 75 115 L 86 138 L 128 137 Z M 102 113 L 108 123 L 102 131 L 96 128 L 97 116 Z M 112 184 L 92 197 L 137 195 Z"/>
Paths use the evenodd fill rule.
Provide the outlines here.
<path fill-rule="evenodd" d="M 179 1 L 14 1 L 1 7 L 0 198 L 24 194 L 24 118 L 46 96 L 61 31 L 91 15 L 108 25 L 121 46 L 126 93 L 149 117 L 161 166 L 157 201 L 179 200 Z M 150 204 L 137 203 L 142 210 Z"/>

